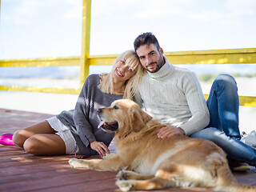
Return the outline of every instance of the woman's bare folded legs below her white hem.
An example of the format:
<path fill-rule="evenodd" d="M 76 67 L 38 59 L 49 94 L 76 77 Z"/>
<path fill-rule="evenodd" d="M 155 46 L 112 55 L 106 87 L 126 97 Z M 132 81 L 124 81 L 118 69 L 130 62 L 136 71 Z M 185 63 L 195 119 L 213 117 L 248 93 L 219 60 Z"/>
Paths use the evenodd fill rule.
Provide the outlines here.
<path fill-rule="evenodd" d="M 13 141 L 30 154 L 66 154 L 65 142 L 47 121 L 39 122 L 14 133 Z"/>

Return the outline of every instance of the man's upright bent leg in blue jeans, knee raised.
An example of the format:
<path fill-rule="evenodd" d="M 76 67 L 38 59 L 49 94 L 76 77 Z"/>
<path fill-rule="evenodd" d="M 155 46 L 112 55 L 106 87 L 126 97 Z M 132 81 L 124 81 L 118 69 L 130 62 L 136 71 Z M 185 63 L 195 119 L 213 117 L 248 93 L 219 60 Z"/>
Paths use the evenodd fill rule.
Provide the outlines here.
<path fill-rule="evenodd" d="M 231 138 L 241 139 L 238 127 L 238 87 L 232 76 L 218 75 L 211 87 L 207 106 L 210 112 L 208 127 L 216 127 Z"/>

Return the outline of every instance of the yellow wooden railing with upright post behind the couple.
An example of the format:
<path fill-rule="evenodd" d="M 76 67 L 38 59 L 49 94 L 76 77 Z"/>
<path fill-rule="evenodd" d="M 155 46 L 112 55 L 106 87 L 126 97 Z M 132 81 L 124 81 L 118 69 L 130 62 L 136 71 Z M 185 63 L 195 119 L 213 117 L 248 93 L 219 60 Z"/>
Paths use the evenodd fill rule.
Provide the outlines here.
<path fill-rule="evenodd" d="M 0 67 L 29 66 L 80 66 L 80 89 L 89 74 L 89 66 L 112 65 L 116 54 L 90 55 L 90 6 L 91 0 L 83 0 L 82 7 L 82 54 L 78 57 L 65 58 L 34 58 L 0 60 Z M 256 48 L 231 50 L 195 50 L 165 52 L 172 64 L 241 64 L 256 63 Z M 1 86 L 0 90 L 32 91 L 54 94 L 78 94 L 80 89 Z M 208 95 L 205 95 L 206 98 Z M 256 97 L 240 96 L 241 106 L 256 106 Z"/>

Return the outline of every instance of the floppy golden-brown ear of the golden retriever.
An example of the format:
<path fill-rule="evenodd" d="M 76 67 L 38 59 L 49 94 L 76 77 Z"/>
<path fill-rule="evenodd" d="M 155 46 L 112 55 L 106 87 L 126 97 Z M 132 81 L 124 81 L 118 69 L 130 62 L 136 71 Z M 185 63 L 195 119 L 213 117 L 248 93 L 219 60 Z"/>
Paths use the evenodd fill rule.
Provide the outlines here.
<path fill-rule="evenodd" d="M 137 107 L 130 108 L 130 128 L 135 132 L 142 130 L 142 128 L 146 125 L 146 122 L 150 121 L 151 118 L 152 117 L 149 114 L 146 114 L 146 112 Z"/>

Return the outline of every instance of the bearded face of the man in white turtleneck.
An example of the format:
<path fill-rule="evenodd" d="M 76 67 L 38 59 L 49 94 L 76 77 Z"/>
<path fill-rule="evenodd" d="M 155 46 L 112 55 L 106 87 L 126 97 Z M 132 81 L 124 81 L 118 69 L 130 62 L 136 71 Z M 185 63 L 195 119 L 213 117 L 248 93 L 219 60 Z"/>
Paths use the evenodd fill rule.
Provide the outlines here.
<path fill-rule="evenodd" d="M 136 53 L 142 66 L 150 73 L 157 72 L 163 65 L 163 50 L 158 50 L 154 44 L 139 46 Z"/>

